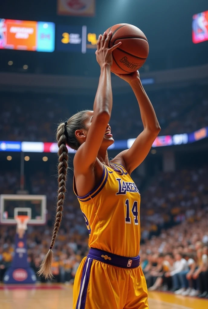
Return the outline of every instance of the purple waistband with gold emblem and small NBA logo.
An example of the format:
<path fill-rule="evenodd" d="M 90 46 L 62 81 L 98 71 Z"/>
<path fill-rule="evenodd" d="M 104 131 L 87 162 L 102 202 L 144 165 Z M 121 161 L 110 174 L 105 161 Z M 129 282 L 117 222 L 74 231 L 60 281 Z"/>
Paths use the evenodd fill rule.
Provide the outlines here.
<path fill-rule="evenodd" d="M 91 257 L 94 260 L 98 260 L 100 262 L 104 262 L 106 264 L 122 268 L 135 268 L 139 266 L 140 262 L 139 255 L 136 257 L 126 257 L 102 251 L 96 248 L 90 248 L 88 257 Z"/>

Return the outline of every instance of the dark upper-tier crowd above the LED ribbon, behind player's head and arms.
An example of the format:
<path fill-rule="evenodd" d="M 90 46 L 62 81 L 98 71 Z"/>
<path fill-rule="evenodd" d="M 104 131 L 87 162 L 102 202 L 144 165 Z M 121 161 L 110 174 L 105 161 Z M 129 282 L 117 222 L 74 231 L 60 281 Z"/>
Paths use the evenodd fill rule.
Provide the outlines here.
<path fill-rule="evenodd" d="M 149 91 L 160 135 L 189 133 L 208 126 L 207 87 Z M 94 95 L 2 93 L 0 140 L 53 142 L 60 121 L 93 108 Z M 115 139 L 135 138 L 143 129 L 133 93 L 113 96 L 111 131 Z"/>

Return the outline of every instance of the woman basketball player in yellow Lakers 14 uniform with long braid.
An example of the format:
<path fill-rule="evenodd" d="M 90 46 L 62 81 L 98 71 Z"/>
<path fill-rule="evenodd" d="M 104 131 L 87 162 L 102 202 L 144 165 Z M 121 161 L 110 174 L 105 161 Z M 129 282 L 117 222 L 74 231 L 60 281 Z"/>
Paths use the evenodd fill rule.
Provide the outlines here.
<path fill-rule="evenodd" d="M 107 148 L 114 142 L 108 124 L 112 109 L 112 51 L 121 44 L 109 49 L 111 35 L 111 32 L 108 35 L 104 32 L 97 43 L 96 57 L 101 74 L 93 111 L 78 112 L 57 130 L 57 214 L 50 250 L 39 274 L 52 277 L 51 249 L 62 218 L 68 145 L 77 150 L 73 162 L 74 192 L 85 217 L 90 247 L 76 273 L 74 309 L 148 308 L 146 281 L 138 256 L 140 193 L 130 174 L 149 153 L 160 126 L 138 71 L 118 74 L 131 85 L 137 97 L 144 130 L 130 149 L 109 162 Z"/>

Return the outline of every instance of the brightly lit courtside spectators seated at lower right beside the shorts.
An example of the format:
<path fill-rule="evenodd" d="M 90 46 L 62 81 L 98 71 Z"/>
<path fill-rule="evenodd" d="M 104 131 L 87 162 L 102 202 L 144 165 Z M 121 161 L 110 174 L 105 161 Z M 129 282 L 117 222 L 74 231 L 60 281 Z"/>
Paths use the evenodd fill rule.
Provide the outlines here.
<path fill-rule="evenodd" d="M 208 207 L 141 245 L 149 290 L 208 298 Z"/>

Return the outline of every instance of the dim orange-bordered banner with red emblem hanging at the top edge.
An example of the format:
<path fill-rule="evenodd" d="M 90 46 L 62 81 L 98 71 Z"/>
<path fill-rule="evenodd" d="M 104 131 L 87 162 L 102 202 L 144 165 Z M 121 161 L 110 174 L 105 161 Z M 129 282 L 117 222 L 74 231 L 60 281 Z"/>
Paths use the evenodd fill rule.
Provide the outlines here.
<path fill-rule="evenodd" d="M 57 0 L 59 15 L 93 16 L 95 0 Z"/>

